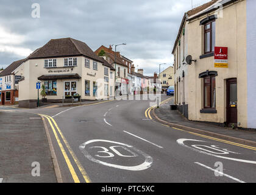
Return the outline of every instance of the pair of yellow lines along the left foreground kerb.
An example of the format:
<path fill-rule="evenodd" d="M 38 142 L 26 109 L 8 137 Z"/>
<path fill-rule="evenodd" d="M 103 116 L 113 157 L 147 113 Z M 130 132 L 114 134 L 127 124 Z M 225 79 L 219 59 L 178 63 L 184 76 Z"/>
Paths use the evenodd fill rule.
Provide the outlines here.
<path fill-rule="evenodd" d="M 66 161 L 66 165 L 68 166 L 68 169 L 71 173 L 71 176 L 73 177 L 73 180 L 75 183 L 80 183 L 79 177 L 77 176 L 76 171 L 74 170 L 74 167 L 71 163 L 71 161 L 68 158 L 68 155 L 66 154 L 66 151 L 63 147 L 62 141 L 65 143 L 66 149 L 68 150 L 69 154 L 71 154 L 74 162 L 76 163 L 77 168 L 79 169 L 79 171 L 81 172 L 82 176 L 84 177 L 85 182 L 90 183 L 91 180 L 87 175 L 87 172 L 85 171 L 85 169 L 83 168 L 83 166 L 81 165 L 80 161 L 78 160 L 76 154 L 74 154 L 74 151 L 71 149 L 71 147 L 69 146 L 68 141 L 66 140 L 66 138 L 64 137 L 62 131 L 60 130 L 60 128 L 57 126 L 57 123 L 54 121 L 54 119 L 51 116 L 48 115 L 40 115 L 43 116 L 44 118 L 48 119 L 48 122 L 52 128 L 52 132 L 54 133 L 54 136 L 57 140 L 57 143 L 59 144 L 60 147 L 60 151 L 62 151 L 63 157 L 65 158 Z M 55 130 L 57 129 L 57 131 Z M 60 137 L 58 135 L 58 133 L 60 134 Z M 62 139 L 62 141 L 61 141 Z"/>

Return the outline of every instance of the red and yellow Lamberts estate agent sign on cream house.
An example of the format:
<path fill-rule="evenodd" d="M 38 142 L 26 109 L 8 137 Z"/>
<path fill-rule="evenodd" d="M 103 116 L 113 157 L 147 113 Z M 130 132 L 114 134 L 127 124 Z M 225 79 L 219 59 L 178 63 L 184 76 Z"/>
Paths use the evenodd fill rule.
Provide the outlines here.
<path fill-rule="evenodd" d="M 215 47 L 214 66 L 216 68 L 228 68 L 227 47 Z"/>

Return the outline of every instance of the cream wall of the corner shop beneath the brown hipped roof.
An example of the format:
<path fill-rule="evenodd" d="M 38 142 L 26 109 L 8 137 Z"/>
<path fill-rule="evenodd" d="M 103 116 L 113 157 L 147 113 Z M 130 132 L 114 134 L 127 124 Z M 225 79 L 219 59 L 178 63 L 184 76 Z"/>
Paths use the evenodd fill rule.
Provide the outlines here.
<path fill-rule="evenodd" d="M 23 73 L 24 79 L 19 82 L 19 105 L 20 107 L 36 107 L 37 105 L 37 89 L 36 83 L 40 76 L 58 76 L 58 75 L 70 75 L 78 74 L 80 79 L 49 79 L 57 80 L 57 93 L 55 95 L 46 96 L 49 102 L 62 101 L 65 97 L 65 82 L 76 82 L 76 90 L 73 92 L 79 93 L 83 100 L 94 100 L 110 98 L 110 94 L 114 93 L 114 71 L 110 70 L 108 66 L 98 63 L 98 69 L 93 69 L 93 61 L 90 60 L 90 68 L 85 67 L 84 56 L 74 56 L 77 59 L 77 66 L 64 66 L 64 59 L 68 57 L 50 57 L 48 59 L 56 59 L 57 65 L 54 68 L 44 68 L 44 59 L 29 59 L 24 62 L 15 72 L 19 74 Z M 104 74 L 104 68 L 108 69 L 108 75 Z M 110 71 L 112 72 L 112 78 L 110 77 Z M 107 77 L 108 79 L 105 79 Z M 104 80 L 105 79 L 105 80 Z M 90 81 L 90 94 L 85 94 L 85 80 Z M 108 80 L 108 82 L 107 82 Z M 41 80 L 41 84 L 44 80 Z M 98 90 L 97 95 L 93 94 L 93 82 L 97 82 Z M 71 84 L 70 84 L 71 85 Z M 106 95 L 104 86 L 108 85 L 108 93 Z M 110 87 L 112 86 L 112 87 Z M 70 86 L 71 87 L 71 86 Z M 113 91 L 110 91 L 113 90 Z M 40 96 L 40 99 L 42 97 Z"/>

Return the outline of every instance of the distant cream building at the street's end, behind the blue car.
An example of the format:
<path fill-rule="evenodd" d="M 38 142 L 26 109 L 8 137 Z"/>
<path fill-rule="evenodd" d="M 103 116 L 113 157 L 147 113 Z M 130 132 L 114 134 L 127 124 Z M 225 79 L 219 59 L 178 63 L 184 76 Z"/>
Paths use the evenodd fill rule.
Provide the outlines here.
<path fill-rule="evenodd" d="M 173 66 L 169 66 L 160 73 L 159 79 L 162 82 L 162 88 L 174 86 L 174 70 Z"/>

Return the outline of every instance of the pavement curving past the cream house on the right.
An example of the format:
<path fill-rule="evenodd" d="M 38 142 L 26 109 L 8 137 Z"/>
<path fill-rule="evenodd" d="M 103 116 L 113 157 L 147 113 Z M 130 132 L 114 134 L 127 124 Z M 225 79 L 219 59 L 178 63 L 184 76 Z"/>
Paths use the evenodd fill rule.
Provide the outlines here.
<path fill-rule="evenodd" d="M 204 133 L 205 135 L 215 136 L 216 138 L 226 138 L 230 141 L 238 141 L 239 143 L 256 146 L 256 131 L 232 129 L 231 127 L 221 127 L 207 122 L 189 121 L 178 110 L 171 110 L 170 105 L 173 99 L 155 108 L 153 116 L 159 122 L 176 127 L 184 127 L 192 132 Z M 160 119 L 160 120 L 159 120 Z"/>

